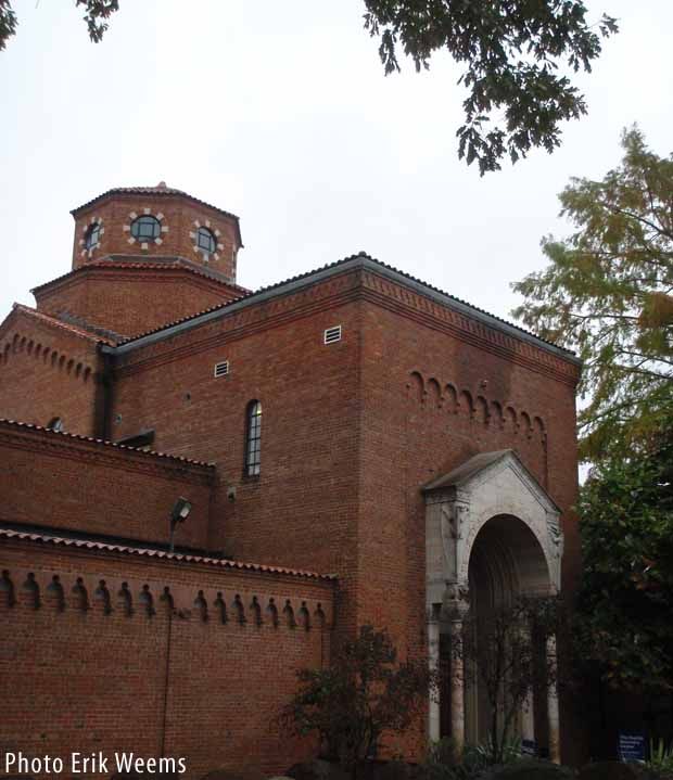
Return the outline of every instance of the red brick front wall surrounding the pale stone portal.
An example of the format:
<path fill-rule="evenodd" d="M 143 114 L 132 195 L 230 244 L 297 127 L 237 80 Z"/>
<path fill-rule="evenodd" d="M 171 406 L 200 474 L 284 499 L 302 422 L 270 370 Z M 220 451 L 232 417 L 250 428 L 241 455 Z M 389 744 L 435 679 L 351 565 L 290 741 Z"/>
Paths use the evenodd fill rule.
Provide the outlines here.
<path fill-rule="evenodd" d="M 473 455 L 511 448 L 562 509 L 563 588 L 580 566 L 574 382 L 521 355 L 368 303 L 363 312 L 359 624 L 426 652 L 426 509 L 420 487 Z M 466 392 L 469 396 L 466 395 Z M 456 402 L 458 401 L 458 404 Z M 372 562 L 376 561 L 376 565 Z M 566 718 L 570 727 L 570 719 Z M 419 752 L 423 739 L 417 742 Z M 566 734 L 566 745 L 576 736 Z"/>

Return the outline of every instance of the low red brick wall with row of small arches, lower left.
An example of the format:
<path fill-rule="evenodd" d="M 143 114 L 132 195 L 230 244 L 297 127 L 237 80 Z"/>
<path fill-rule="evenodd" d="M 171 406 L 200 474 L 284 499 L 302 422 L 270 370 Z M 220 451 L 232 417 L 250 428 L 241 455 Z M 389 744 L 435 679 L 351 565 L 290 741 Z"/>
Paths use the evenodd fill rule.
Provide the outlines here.
<path fill-rule="evenodd" d="M 63 552 L 34 544 L 3 545 L 0 570 L 7 573 L 0 580 L 3 752 L 163 753 L 185 757 L 182 777 L 196 780 L 214 769 L 247 778 L 280 775 L 315 750 L 313 742 L 281 733 L 276 716 L 295 689 L 295 670 L 329 662 L 330 583 Z M 24 587 L 29 573 L 39 587 L 38 602 L 35 589 Z M 62 597 L 52 585 L 54 575 Z M 101 580 L 110 597 L 109 614 L 97 596 Z M 123 583 L 131 596 L 131 614 L 119 597 Z M 172 615 L 161 599 L 166 588 L 174 599 Z M 142 593 L 151 594 L 153 614 Z M 226 624 L 215 604 L 218 596 L 227 606 Z M 237 596 L 244 606 L 243 624 L 237 617 Z M 253 597 L 262 608 L 262 625 L 251 608 Z M 201 599 L 207 619 L 195 603 Z M 280 613 L 277 627 L 267 611 L 270 599 Z M 288 601 L 294 628 L 283 614 Z M 308 630 L 300 614 L 303 604 Z M 113 772 L 111 765 L 107 777 Z"/>

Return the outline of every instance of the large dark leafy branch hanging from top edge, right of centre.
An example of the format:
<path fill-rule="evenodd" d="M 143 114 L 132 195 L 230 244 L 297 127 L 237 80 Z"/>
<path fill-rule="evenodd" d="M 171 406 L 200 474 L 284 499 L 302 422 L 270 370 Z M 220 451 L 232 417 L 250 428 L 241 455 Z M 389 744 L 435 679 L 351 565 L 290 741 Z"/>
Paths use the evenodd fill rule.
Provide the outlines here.
<path fill-rule="evenodd" d="M 397 47 L 417 69 L 447 49 L 466 69 L 465 125 L 458 155 L 483 174 L 512 163 L 535 148 L 553 152 L 560 124 L 586 113 L 583 95 L 559 67 L 589 72 L 600 39 L 617 31 L 604 15 L 586 21 L 579 0 L 365 0 L 365 26 L 380 37 L 379 53 L 390 74 L 399 69 Z M 501 120 L 499 117 L 503 117 Z M 494 118 L 498 117 L 497 120 Z"/>

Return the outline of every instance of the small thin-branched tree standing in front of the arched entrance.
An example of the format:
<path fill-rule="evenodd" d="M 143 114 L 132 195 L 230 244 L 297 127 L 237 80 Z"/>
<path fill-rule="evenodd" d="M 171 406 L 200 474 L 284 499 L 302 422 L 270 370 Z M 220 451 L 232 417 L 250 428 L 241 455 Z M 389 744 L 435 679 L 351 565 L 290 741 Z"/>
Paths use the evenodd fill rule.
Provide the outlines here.
<path fill-rule="evenodd" d="M 480 686 L 486 695 L 491 764 L 503 763 L 517 716 L 534 687 L 557 685 L 558 664 L 547 640 L 562 636 L 563 627 L 558 597 L 521 596 L 464 621 L 452 653 L 462 660 L 466 682 Z"/>

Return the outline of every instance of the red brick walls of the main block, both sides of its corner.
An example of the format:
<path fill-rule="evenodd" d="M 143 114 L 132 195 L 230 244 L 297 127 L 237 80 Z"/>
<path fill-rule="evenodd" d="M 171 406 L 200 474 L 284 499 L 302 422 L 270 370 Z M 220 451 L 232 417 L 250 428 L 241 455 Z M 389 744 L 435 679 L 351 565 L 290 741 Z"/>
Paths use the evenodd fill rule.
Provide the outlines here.
<path fill-rule="evenodd" d="M 403 654 L 423 653 L 420 487 L 477 452 L 513 448 L 548 487 L 563 510 L 572 588 L 577 369 L 468 318 L 449 320 L 392 283 L 350 279 L 139 349 L 119 370 L 115 412 L 122 431 L 155 426 L 163 448 L 218 463 L 238 489 L 223 510 L 234 554 L 336 572 L 342 627 L 373 622 Z M 348 289 L 355 299 L 329 309 Z M 290 311 L 304 316 L 283 321 Z M 322 330 L 339 322 L 343 341 L 325 347 Z M 213 380 L 221 359 L 232 373 Z M 165 386 L 175 397 L 162 406 Z M 264 408 L 258 482 L 240 476 L 251 398 Z"/>

